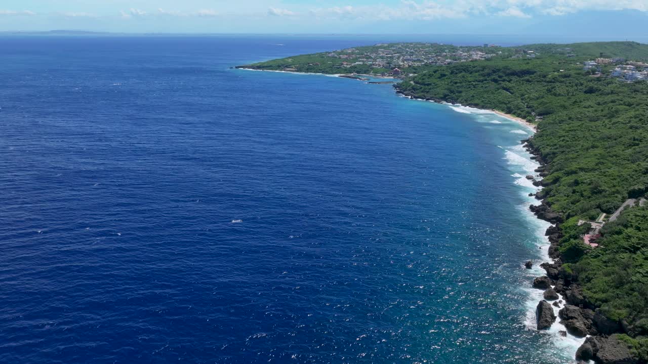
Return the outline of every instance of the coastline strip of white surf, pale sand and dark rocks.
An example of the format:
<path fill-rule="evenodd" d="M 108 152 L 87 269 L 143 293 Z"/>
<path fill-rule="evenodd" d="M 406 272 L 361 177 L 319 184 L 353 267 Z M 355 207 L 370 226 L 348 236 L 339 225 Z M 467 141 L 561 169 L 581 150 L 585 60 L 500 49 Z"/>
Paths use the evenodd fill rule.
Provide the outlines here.
<path fill-rule="evenodd" d="M 316 74 L 292 71 L 273 72 Z M 323 75 L 340 76 L 332 74 Z M 549 176 L 550 167 L 548 161 L 544 159 L 533 141 L 533 135 L 538 131 L 537 126 L 531 122 L 527 122 L 527 120 L 503 113 L 502 111 L 452 104 L 439 98 L 419 98 L 413 91 L 403 91 L 397 85 L 395 85 L 395 89 L 397 95 L 400 97 L 445 104 L 451 108 L 454 106 L 456 111 L 463 113 L 480 114 L 478 111 L 482 111 L 482 114 L 492 113 L 516 122 L 531 131 L 531 137 L 522 140 L 522 145 L 518 145 L 518 148 L 520 150 L 526 150 L 526 153 L 530 155 L 528 159 L 533 161 L 537 166 L 535 170 L 531 168 L 531 170 L 527 171 L 529 173 L 527 176 L 524 176 L 528 177 L 527 179 L 529 181 L 526 182 L 531 183 L 532 181 L 533 186 L 537 188 L 535 189 L 535 194 L 528 194 L 531 204 L 523 208 L 527 214 L 530 214 L 529 217 L 535 219 L 535 221 L 549 223 L 549 225 L 546 227 L 544 234 L 542 232 L 538 233 L 538 238 L 540 238 L 538 242 L 542 240 L 542 244 L 537 245 L 542 251 L 541 256 L 535 255 L 535 258 L 531 258 L 527 262 L 529 264 L 528 266 L 527 264 L 522 264 L 523 271 L 525 266 L 528 269 L 526 270 L 526 274 L 523 273 L 527 283 L 522 286 L 522 290 L 528 293 L 528 299 L 525 301 L 527 317 L 524 324 L 527 330 L 537 331 L 550 336 L 555 347 L 559 349 L 554 354 L 560 357 L 568 356 L 570 362 L 601 359 L 596 358 L 596 352 L 601 348 L 616 348 L 619 345 L 623 347 L 625 344 L 614 336 L 616 334 L 623 334 L 624 330 L 627 332 L 627 328 L 623 326 L 623 322 L 619 323 L 619 321 L 606 317 L 604 313 L 599 311 L 600 307 L 588 302 L 584 297 L 583 288 L 577 281 L 577 277 L 572 275 L 568 266 L 562 266 L 562 257 L 558 248 L 559 242 L 563 237 L 561 224 L 564 222 L 564 216 L 553 211 L 550 201 L 546 198 L 547 192 L 544 190 L 544 187 L 547 187 L 549 183 L 542 181 L 542 179 Z M 471 112 L 464 108 L 473 109 L 474 111 Z M 527 157 L 524 158 L 527 159 Z M 523 176 L 516 177 L 524 178 Z M 542 230 L 544 229 L 545 227 L 542 228 Z M 529 254 L 531 253 L 529 251 Z M 533 284 L 530 284 L 528 280 L 533 280 Z M 538 301 L 540 302 L 535 306 Z M 548 315 L 548 312 L 551 315 Z M 538 326 L 540 326 L 539 329 Z M 623 358 L 636 360 L 633 358 L 634 354 L 621 354 L 623 354 L 621 355 Z"/>

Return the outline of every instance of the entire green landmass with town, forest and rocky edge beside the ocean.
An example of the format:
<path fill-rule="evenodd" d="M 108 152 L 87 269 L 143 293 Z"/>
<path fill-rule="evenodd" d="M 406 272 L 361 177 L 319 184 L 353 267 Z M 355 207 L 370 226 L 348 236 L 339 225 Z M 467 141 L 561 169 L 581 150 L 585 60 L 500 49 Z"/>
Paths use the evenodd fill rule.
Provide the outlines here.
<path fill-rule="evenodd" d="M 410 98 L 512 115 L 541 167 L 529 208 L 553 225 L 538 329 L 559 319 L 587 336 L 576 359 L 648 362 L 648 45 L 630 42 L 459 47 L 389 43 L 238 68 L 393 77 Z M 533 262 L 527 262 L 531 267 Z M 522 266 L 522 265 L 521 265 Z M 550 303 L 561 301 L 559 317 Z M 566 334 L 566 333 L 565 333 Z"/>

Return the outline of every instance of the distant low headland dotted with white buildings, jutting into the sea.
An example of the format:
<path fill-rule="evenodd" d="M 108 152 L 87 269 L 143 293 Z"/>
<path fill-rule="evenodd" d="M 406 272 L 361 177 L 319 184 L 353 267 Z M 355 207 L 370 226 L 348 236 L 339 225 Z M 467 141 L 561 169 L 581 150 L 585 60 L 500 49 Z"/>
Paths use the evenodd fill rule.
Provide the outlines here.
<path fill-rule="evenodd" d="M 385 43 L 330 52 L 302 54 L 240 65 L 237 68 L 325 74 L 388 74 L 399 68 L 397 76 L 419 74 L 435 65 L 478 60 L 521 60 L 553 58 L 584 60 L 601 56 L 648 60 L 648 45 L 631 42 L 592 42 L 573 44 L 531 44 L 516 47 L 497 45 L 455 46 L 438 43 Z"/>

